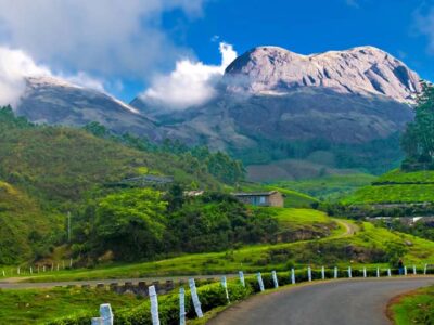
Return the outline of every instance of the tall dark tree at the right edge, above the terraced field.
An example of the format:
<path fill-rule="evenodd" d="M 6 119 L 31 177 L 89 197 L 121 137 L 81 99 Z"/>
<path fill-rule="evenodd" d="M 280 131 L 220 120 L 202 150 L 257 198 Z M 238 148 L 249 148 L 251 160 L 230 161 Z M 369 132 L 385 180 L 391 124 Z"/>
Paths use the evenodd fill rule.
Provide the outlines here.
<path fill-rule="evenodd" d="M 423 83 L 413 122 L 401 140 L 406 153 L 405 170 L 434 169 L 434 87 Z"/>

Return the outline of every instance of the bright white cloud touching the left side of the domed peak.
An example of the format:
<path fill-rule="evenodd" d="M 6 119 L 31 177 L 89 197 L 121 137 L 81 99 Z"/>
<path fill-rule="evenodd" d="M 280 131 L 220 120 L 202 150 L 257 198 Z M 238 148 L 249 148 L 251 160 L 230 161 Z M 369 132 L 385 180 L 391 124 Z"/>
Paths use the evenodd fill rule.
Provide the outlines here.
<path fill-rule="evenodd" d="M 169 75 L 154 78 L 151 87 L 140 95 L 141 99 L 173 109 L 183 109 L 209 101 L 216 94 L 216 81 L 238 56 L 230 44 L 221 42 L 219 50 L 220 65 L 206 65 L 189 58 L 178 61 Z"/>

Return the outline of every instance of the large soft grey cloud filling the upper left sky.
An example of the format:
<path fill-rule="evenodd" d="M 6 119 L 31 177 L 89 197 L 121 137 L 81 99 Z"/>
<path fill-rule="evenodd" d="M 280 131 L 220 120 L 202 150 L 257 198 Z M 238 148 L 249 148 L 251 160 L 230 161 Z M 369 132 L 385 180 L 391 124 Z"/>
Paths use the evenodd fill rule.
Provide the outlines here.
<path fill-rule="evenodd" d="M 54 70 L 143 78 L 189 53 L 164 31 L 163 14 L 197 16 L 204 1 L 1 0 L 0 44 L 23 49 Z"/>

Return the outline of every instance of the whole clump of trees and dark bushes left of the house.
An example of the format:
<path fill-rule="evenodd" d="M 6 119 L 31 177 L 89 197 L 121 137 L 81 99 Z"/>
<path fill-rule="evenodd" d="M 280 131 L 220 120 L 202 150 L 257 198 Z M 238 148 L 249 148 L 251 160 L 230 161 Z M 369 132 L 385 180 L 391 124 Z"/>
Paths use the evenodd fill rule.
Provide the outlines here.
<path fill-rule="evenodd" d="M 132 188 L 102 198 L 77 220 L 75 252 L 132 261 L 275 239 L 278 221 L 270 210 L 247 209 L 222 194 L 178 196 L 178 185 L 174 187 L 164 197 L 154 190 Z"/>

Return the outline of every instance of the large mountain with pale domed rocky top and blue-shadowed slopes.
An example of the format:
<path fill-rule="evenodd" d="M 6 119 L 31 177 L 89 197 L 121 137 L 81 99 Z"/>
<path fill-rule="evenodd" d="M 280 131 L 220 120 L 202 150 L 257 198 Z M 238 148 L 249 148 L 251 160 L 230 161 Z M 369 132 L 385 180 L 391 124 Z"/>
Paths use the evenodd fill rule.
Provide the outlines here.
<path fill-rule="evenodd" d="M 131 106 L 163 126 L 164 136 L 242 158 L 255 180 L 297 178 L 308 164 L 316 167 L 302 177 L 335 168 L 380 173 L 401 158 L 399 132 L 413 118 L 419 79 L 372 47 L 311 55 L 259 47 L 227 67 L 209 103 L 164 112 L 136 99 Z"/>

